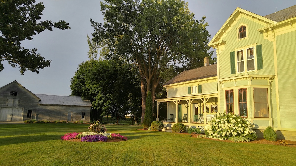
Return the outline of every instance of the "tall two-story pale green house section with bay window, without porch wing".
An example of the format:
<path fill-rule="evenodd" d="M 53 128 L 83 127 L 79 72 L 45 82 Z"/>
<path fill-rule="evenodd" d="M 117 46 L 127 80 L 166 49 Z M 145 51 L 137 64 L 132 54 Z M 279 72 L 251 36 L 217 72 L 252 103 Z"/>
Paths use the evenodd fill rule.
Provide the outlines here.
<path fill-rule="evenodd" d="M 237 8 L 208 44 L 217 53 L 220 112 L 289 140 L 296 140 L 294 22 L 296 6 L 264 17 Z"/>

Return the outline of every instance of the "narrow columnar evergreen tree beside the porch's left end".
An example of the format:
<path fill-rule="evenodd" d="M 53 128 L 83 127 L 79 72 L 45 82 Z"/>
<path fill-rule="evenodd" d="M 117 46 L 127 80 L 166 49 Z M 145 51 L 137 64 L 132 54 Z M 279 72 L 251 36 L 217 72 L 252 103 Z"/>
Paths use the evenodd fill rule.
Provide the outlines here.
<path fill-rule="evenodd" d="M 146 97 L 146 108 L 145 108 L 145 116 L 143 121 L 144 129 L 148 129 L 152 123 L 152 96 L 151 92 L 148 91 Z"/>

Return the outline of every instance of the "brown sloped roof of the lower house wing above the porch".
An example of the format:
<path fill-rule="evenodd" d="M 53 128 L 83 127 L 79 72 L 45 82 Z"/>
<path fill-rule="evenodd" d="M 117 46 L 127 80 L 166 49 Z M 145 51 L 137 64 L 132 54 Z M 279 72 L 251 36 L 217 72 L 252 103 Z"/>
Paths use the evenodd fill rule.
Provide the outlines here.
<path fill-rule="evenodd" d="M 187 81 L 193 81 L 198 79 L 216 77 L 216 76 L 217 76 L 217 64 L 212 64 L 209 66 L 202 66 L 196 69 L 183 71 L 180 74 L 178 74 L 176 77 L 170 79 L 170 81 L 163 84 L 163 86 L 176 84 L 180 82 L 187 82 Z"/>

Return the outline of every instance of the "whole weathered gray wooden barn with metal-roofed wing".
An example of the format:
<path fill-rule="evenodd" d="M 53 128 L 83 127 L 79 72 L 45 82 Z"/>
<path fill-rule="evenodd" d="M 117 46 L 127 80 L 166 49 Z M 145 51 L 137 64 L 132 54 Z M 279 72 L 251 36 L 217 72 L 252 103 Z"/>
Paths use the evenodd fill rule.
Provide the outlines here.
<path fill-rule="evenodd" d="M 81 97 L 33 94 L 17 81 L 0 88 L 0 121 L 89 122 L 90 108 Z"/>

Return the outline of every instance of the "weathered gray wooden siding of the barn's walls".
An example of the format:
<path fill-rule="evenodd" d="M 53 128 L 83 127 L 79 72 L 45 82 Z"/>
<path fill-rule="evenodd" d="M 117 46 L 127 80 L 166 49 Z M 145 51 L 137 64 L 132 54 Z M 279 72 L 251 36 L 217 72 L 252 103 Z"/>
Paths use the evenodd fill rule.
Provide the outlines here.
<path fill-rule="evenodd" d="M 17 96 L 10 96 L 10 91 L 17 91 Z M 12 98 L 9 102 L 9 98 Z M 34 95 L 28 89 L 25 89 L 17 82 L 7 84 L 0 89 L 0 108 L 21 108 L 23 109 L 23 119 L 36 118 L 37 120 L 67 120 L 67 112 L 72 112 L 73 121 L 83 120 L 89 122 L 90 106 L 74 105 L 47 105 L 39 104 L 39 97 Z M 19 102 L 18 102 L 19 101 Z M 19 110 L 19 109 L 18 109 Z M 27 118 L 27 111 L 32 110 L 32 117 Z M 81 119 L 82 112 L 85 112 L 85 119 Z M 19 113 L 17 113 L 19 115 Z"/>

